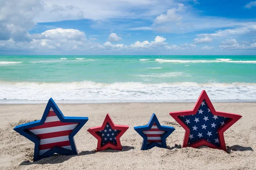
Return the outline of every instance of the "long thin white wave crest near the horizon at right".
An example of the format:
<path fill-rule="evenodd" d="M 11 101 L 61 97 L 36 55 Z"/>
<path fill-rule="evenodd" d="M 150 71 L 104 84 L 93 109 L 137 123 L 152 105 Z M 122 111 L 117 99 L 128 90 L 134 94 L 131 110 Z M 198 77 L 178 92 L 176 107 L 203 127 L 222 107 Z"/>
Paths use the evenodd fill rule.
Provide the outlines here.
<path fill-rule="evenodd" d="M 179 62 L 179 63 L 198 63 L 198 62 L 232 62 L 232 63 L 252 63 L 256 64 L 255 60 L 252 61 L 230 61 L 230 60 L 179 60 L 179 59 L 155 59 L 156 62 Z"/>

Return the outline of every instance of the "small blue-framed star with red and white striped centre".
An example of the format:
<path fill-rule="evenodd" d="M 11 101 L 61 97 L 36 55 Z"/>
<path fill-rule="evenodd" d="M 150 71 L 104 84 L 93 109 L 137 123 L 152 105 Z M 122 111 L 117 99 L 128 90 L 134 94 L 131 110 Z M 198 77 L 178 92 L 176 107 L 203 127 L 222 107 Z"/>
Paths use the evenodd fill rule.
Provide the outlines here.
<path fill-rule="evenodd" d="M 148 150 L 155 146 L 166 148 L 166 138 L 175 128 L 160 125 L 157 116 L 153 113 L 148 125 L 134 127 L 134 130 L 143 137 L 141 150 Z"/>

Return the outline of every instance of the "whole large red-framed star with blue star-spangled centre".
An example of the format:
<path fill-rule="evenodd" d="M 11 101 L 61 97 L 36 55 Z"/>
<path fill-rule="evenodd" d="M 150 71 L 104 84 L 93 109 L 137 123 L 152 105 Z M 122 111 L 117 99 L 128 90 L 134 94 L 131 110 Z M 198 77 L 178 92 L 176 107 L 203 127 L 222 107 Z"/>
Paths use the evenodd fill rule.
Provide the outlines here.
<path fill-rule="evenodd" d="M 202 91 L 193 110 L 171 112 L 170 115 L 185 129 L 183 147 L 205 145 L 225 151 L 224 132 L 242 117 L 215 111 L 205 91 Z"/>

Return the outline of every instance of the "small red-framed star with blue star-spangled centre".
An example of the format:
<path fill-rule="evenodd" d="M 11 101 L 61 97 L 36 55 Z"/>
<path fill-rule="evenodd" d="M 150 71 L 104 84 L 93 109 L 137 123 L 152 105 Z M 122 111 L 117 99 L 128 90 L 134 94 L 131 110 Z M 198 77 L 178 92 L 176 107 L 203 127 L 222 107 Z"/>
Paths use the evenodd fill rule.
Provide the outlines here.
<path fill-rule="evenodd" d="M 96 151 L 106 150 L 107 148 L 122 150 L 120 137 L 128 128 L 129 126 L 125 125 L 115 125 L 107 114 L 102 126 L 91 127 L 87 131 L 98 139 Z"/>

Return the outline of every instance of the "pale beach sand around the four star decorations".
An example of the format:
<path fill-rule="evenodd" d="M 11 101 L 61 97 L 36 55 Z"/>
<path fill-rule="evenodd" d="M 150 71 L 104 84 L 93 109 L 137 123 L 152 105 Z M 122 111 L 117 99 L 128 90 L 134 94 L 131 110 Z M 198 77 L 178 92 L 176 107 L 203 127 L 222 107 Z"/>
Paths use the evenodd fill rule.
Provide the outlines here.
<path fill-rule="evenodd" d="M 227 152 L 201 147 L 180 148 L 184 130 L 169 115 L 172 111 L 190 110 L 194 103 L 111 103 L 58 105 L 65 116 L 87 116 L 89 121 L 75 136 L 79 155 L 51 156 L 32 162 L 34 143 L 13 128 L 41 119 L 46 105 L 0 105 L 0 169 L 8 170 L 247 170 L 256 169 L 256 103 L 213 103 L 217 111 L 237 113 L 243 117 L 225 133 Z M 156 113 L 161 125 L 176 130 L 167 138 L 167 149 L 140 150 L 141 136 L 134 126 L 146 125 Z M 87 129 L 102 125 L 110 113 L 117 125 L 130 128 L 121 137 L 122 151 L 95 152 L 97 140 Z"/>

